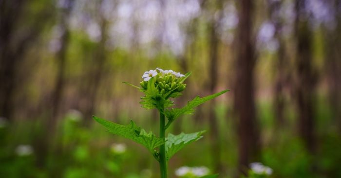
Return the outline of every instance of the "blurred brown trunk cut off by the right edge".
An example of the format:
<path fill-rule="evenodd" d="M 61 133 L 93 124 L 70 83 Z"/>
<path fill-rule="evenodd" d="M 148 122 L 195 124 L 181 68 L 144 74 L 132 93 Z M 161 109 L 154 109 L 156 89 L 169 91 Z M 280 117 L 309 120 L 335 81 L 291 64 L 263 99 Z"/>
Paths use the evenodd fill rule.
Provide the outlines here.
<path fill-rule="evenodd" d="M 334 121 L 339 125 L 341 134 L 341 2 L 340 0 L 329 0 L 330 8 L 335 8 L 336 27 L 325 28 L 325 70 L 329 85 L 329 101 Z"/>

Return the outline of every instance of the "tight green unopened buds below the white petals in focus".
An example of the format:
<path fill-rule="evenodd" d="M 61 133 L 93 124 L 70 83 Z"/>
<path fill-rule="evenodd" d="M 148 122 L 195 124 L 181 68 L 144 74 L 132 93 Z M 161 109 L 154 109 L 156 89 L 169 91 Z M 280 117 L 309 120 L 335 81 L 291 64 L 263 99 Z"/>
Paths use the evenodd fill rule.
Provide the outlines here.
<path fill-rule="evenodd" d="M 180 76 L 180 73 L 171 71 L 165 73 L 164 71 L 160 71 L 157 73 L 157 75 L 153 76 L 155 77 L 155 88 L 156 90 L 164 96 L 164 94 L 170 94 L 174 92 L 181 92 L 184 89 L 186 89 L 186 84 L 182 83 L 182 77 L 184 75 Z M 142 81 L 140 83 L 141 87 L 143 89 L 148 89 L 148 81 Z"/>

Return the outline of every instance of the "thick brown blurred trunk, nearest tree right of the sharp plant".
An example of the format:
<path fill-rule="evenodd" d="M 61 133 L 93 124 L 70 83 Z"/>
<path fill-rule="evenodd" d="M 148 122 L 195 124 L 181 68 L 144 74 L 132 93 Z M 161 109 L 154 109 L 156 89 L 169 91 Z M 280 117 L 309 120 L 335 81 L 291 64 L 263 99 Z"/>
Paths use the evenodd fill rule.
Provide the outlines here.
<path fill-rule="evenodd" d="M 252 36 L 253 0 L 239 1 L 239 23 L 236 42 L 234 111 L 238 120 L 238 149 L 240 173 L 246 174 L 250 161 L 259 154 L 259 131 L 257 129 L 254 101 L 255 49 Z"/>

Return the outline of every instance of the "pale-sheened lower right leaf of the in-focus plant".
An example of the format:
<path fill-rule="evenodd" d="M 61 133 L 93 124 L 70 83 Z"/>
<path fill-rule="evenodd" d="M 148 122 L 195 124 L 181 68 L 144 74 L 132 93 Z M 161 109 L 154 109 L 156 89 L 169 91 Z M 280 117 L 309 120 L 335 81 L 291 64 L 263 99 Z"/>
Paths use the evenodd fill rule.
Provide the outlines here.
<path fill-rule="evenodd" d="M 170 160 L 170 158 L 184 146 L 201 139 L 203 137 L 202 134 L 205 132 L 206 131 L 190 134 L 181 133 L 179 135 L 168 134 L 168 137 L 166 138 L 167 142 L 165 142 L 167 160 Z"/>

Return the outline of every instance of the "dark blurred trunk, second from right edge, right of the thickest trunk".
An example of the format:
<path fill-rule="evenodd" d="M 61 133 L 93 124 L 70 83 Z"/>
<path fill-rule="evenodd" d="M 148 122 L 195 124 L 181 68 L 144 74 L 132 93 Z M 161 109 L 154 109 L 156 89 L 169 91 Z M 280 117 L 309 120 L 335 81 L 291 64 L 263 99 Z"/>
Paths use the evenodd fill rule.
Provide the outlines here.
<path fill-rule="evenodd" d="M 315 147 L 314 108 L 316 75 L 313 72 L 312 32 L 308 24 L 305 0 L 296 0 L 295 35 L 297 40 L 295 100 L 298 107 L 298 129 L 310 152 Z"/>

